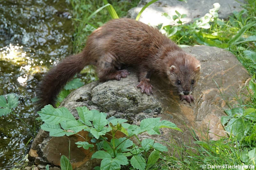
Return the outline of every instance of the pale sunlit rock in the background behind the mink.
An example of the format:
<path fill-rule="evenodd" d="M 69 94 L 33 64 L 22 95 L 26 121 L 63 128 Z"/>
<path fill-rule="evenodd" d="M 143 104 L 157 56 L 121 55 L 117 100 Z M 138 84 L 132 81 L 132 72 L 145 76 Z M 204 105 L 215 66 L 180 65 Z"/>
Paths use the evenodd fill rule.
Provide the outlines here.
<path fill-rule="evenodd" d="M 128 11 L 128 18 L 136 18 L 142 7 L 145 6 L 151 0 L 141 0 L 137 7 L 134 7 Z M 186 18 L 182 18 L 181 21 L 188 23 L 195 18 L 203 17 L 209 10 L 213 8 L 214 3 L 220 4 L 219 18 L 228 18 L 233 11 L 241 11 L 243 8 L 241 5 L 245 3 L 244 0 L 216 0 L 216 1 L 202 1 L 202 0 L 188 0 L 187 3 L 179 0 L 158 0 L 157 2 L 149 5 L 141 14 L 139 21 L 152 26 L 159 24 L 174 25 L 175 22 L 172 19 L 173 15 L 177 15 L 175 11 L 180 14 L 187 14 Z M 163 13 L 167 13 L 171 18 L 166 18 Z"/>

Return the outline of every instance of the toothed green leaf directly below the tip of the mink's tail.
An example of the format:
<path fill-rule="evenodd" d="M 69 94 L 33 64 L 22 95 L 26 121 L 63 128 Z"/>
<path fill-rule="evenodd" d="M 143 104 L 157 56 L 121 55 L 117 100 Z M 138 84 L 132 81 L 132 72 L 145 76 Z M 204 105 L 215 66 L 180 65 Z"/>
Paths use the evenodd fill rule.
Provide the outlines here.
<path fill-rule="evenodd" d="M 37 112 L 41 119 L 48 124 L 58 124 L 67 120 L 76 120 L 66 107 L 54 108 L 52 105 L 47 105 Z"/>

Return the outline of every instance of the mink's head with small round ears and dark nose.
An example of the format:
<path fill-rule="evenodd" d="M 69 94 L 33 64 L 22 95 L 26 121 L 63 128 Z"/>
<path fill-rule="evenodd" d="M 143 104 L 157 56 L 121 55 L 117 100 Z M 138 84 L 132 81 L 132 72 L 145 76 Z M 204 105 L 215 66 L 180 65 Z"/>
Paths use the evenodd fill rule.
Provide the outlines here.
<path fill-rule="evenodd" d="M 191 94 L 200 75 L 200 62 L 184 51 L 173 52 L 168 78 L 181 95 Z"/>

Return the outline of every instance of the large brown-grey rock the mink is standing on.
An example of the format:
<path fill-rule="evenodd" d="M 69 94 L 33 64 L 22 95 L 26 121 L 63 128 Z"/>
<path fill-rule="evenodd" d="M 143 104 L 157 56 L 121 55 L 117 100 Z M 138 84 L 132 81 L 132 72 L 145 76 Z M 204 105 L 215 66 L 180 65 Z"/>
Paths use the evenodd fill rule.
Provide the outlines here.
<path fill-rule="evenodd" d="M 161 129 L 161 136 L 144 133 L 140 135 L 141 139 L 147 137 L 160 142 L 190 145 L 194 140 L 191 135 L 193 129 L 199 139 L 217 140 L 226 135 L 220 123 L 221 116 L 225 115 L 223 109 L 235 104 L 234 97 L 241 92 L 250 76 L 236 57 L 224 49 L 194 46 L 184 50 L 201 62 L 201 76 L 194 90 L 195 103 L 180 101 L 177 92 L 157 75 L 152 77 L 154 94 L 141 94 L 136 87 L 138 78 L 131 69 L 131 75 L 120 81 L 95 81 L 75 90 L 61 103 L 61 107 L 67 107 L 77 117 L 75 108 L 87 106 L 109 116 L 128 119 L 133 124 L 139 124 L 148 117 L 161 117 L 183 130 Z M 90 160 L 92 153 L 76 147 L 75 142 L 82 139 L 78 135 L 49 137 L 47 133 L 40 133 L 30 151 L 30 156 L 38 163 L 48 161 L 60 165 L 61 155 L 68 156 L 69 141 L 71 162 L 77 170 L 91 169 L 99 163 L 95 159 Z M 86 136 L 84 132 L 80 135 Z"/>

